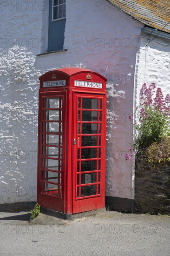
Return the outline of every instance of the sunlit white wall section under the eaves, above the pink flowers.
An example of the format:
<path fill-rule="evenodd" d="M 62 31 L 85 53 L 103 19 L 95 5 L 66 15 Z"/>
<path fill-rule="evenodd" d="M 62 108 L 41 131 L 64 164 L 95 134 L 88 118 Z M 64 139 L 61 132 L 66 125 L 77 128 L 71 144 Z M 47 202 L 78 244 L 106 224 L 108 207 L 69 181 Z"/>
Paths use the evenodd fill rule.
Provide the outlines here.
<path fill-rule="evenodd" d="M 135 70 L 134 108 L 139 104 L 140 89 L 144 82 L 155 82 L 163 95 L 170 94 L 170 41 L 141 33 Z M 151 40 L 151 41 L 150 41 Z"/>

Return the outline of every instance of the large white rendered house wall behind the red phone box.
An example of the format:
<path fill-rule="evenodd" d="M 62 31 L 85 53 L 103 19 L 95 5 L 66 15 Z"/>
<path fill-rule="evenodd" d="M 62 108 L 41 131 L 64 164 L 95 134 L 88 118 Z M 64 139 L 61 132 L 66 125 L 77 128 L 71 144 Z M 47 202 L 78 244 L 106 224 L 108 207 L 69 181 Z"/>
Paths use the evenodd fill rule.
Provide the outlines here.
<path fill-rule="evenodd" d="M 118 8 L 105 6 L 107 1 L 96 7 L 93 0 L 67 0 L 64 48 L 68 51 L 36 56 L 46 52 L 48 6 L 35 2 L 34 9 L 24 10 L 24 4 L 10 7 L 7 1 L 1 11 L 0 203 L 36 201 L 38 77 L 68 66 L 89 68 L 109 79 L 106 195 L 131 199 L 132 163 L 124 155 L 132 142 L 128 116 L 143 25 Z"/>

